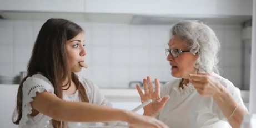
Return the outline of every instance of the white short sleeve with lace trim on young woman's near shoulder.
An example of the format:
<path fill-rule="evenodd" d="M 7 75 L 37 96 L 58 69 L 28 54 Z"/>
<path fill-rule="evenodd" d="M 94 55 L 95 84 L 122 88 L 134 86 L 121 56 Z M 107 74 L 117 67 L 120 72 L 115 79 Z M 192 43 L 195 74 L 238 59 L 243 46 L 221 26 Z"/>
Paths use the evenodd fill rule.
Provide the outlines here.
<path fill-rule="evenodd" d="M 54 94 L 54 88 L 48 79 L 41 74 L 36 74 L 32 77 L 28 77 L 26 81 L 23 82 L 22 93 L 22 118 L 20 125 L 25 124 L 28 121 L 28 115 L 32 113 L 31 102 L 33 98 L 36 97 L 36 92 L 50 92 Z M 55 94 L 54 94 L 55 95 Z M 40 120 L 40 118 L 38 118 Z M 37 121 L 37 120 L 35 120 Z"/>

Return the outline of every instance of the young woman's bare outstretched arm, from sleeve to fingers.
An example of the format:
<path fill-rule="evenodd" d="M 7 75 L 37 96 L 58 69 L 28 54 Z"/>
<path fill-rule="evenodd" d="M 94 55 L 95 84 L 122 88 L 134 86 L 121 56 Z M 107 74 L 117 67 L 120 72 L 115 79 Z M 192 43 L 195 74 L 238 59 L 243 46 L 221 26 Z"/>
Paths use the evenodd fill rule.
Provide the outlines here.
<path fill-rule="evenodd" d="M 48 92 L 37 93 L 31 104 L 32 108 L 36 110 L 37 113 L 43 113 L 59 121 L 97 122 L 121 120 L 137 126 L 167 127 L 165 124 L 152 117 L 86 102 L 66 102 Z"/>

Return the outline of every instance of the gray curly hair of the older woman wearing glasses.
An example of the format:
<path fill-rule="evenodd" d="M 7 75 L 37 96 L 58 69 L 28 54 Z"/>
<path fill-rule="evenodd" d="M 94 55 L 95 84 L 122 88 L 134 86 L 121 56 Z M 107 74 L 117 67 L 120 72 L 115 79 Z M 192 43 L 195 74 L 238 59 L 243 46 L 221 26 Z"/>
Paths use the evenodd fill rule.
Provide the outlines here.
<path fill-rule="evenodd" d="M 214 31 L 197 20 L 184 20 L 172 26 L 171 36 L 185 40 L 190 52 L 197 54 L 194 67 L 200 72 L 218 73 L 220 43 Z"/>

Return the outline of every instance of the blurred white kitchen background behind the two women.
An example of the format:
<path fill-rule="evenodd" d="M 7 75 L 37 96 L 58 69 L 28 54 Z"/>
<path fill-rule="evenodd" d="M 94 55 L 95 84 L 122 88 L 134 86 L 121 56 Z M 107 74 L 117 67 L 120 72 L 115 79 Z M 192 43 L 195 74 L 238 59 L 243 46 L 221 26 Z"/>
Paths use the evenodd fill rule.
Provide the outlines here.
<path fill-rule="evenodd" d="M 142 86 L 143 78 L 158 78 L 161 85 L 176 79 L 164 51 L 170 28 L 180 20 L 200 20 L 219 39 L 220 76 L 240 89 L 245 106 L 256 113 L 256 0 L 0 0 L 1 128 L 18 127 L 12 123 L 18 86 L 49 18 L 82 27 L 88 68 L 78 74 L 94 82 L 114 108 L 126 110 L 141 104 L 135 84 Z"/>

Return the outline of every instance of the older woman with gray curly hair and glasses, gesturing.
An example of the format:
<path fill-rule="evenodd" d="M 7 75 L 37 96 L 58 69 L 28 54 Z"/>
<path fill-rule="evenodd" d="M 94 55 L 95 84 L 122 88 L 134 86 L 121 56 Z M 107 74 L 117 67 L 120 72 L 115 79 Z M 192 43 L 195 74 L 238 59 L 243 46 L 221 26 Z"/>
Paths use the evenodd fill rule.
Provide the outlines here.
<path fill-rule="evenodd" d="M 154 100 L 144 107 L 144 115 L 155 116 L 172 128 L 230 127 L 228 120 L 237 106 L 247 109 L 239 89 L 216 74 L 220 44 L 214 31 L 194 20 L 179 22 L 172 27 L 168 47 L 171 74 L 178 79 L 161 89 L 155 79 L 155 90 L 149 77 L 143 79 L 144 93 L 137 86 L 142 102 Z M 222 109 L 223 90 L 237 103 L 234 108 Z"/>

